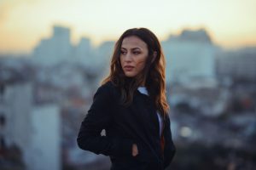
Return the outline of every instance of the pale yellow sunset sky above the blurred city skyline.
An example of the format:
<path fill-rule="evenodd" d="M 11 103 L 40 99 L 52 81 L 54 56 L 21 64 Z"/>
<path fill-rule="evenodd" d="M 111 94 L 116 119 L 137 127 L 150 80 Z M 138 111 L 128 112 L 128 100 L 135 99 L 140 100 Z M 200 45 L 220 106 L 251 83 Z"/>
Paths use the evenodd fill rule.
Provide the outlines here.
<path fill-rule="evenodd" d="M 161 41 L 205 28 L 224 48 L 256 45 L 256 0 L 0 0 L 0 52 L 29 53 L 52 27 L 71 29 L 72 42 L 115 41 L 147 27 Z"/>

